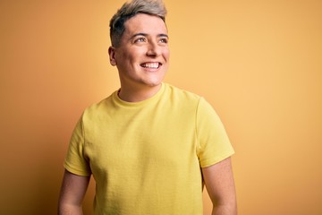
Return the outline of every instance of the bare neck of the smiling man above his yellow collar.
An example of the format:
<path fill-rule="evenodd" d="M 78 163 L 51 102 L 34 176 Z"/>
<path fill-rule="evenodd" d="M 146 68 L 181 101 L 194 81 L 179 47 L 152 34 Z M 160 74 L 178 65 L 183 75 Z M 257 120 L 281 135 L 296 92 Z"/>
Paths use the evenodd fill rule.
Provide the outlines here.
<path fill-rule="evenodd" d="M 161 86 L 161 83 L 157 86 L 149 87 L 148 89 L 129 89 L 121 86 L 121 89 L 118 91 L 118 97 L 127 102 L 139 102 L 156 95 L 158 90 L 161 89 Z"/>

